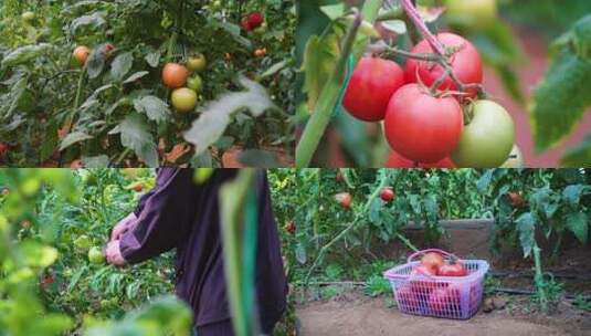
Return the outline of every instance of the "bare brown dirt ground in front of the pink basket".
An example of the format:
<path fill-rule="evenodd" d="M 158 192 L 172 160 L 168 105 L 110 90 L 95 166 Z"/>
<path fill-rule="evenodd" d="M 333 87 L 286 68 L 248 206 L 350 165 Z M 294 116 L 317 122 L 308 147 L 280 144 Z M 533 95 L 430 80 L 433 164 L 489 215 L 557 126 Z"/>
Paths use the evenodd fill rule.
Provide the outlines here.
<path fill-rule="evenodd" d="M 503 311 L 479 312 L 468 321 L 451 321 L 404 315 L 395 306 L 389 307 L 389 301 L 349 291 L 329 301 L 298 305 L 299 335 L 591 335 L 591 313 L 567 303 L 559 307 L 561 313 L 542 316 L 524 313 L 525 303 L 511 298 Z"/>

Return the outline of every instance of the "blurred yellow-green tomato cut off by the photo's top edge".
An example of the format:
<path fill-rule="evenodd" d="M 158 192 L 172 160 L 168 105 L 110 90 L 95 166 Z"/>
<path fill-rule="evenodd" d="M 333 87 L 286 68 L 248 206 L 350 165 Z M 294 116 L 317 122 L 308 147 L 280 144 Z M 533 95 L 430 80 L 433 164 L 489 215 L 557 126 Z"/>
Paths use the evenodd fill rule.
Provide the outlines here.
<path fill-rule="evenodd" d="M 447 14 L 453 23 L 485 29 L 498 18 L 496 0 L 446 0 Z"/>

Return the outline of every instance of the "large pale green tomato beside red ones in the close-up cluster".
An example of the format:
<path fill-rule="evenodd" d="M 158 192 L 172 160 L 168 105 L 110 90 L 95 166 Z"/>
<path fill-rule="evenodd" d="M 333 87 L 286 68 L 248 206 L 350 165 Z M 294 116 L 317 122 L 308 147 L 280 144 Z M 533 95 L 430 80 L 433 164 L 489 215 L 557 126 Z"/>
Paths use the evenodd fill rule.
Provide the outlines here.
<path fill-rule="evenodd" d="M 515 125 L 509 113 L 497 103 L 476 101 L 467 108 L 472 122 L 462 130 L 452 161 L 460 168 L 502 166 L 515 145 Z"/>

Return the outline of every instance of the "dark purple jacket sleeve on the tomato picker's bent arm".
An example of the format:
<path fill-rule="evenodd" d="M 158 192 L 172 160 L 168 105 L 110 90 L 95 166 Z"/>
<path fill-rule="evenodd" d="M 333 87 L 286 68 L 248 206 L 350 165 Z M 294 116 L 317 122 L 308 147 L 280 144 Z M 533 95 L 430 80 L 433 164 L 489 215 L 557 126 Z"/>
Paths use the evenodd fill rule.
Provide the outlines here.
<path fill-rule="evenodd" d="M 140 201 L 137 227 L 122 237 L 120 250 L 127 262 L 151 259 L 187 238 L 186 227 L 198 202 L 192 176 L 192 169 L 159 171 L 156 187 Z"/>

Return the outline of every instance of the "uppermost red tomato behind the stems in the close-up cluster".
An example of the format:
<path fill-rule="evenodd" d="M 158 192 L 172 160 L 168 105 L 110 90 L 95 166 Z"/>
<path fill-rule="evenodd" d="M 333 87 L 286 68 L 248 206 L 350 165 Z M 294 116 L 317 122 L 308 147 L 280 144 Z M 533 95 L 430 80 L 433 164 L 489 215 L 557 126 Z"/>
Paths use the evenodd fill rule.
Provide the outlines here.
<path fill-rule="evenodd" d="M 463 1 L 465 2 L 465 1 Z M 464 38 L 452 34 L 437 34 L 437 40 L 447 49 L 456 52 L 451 56 L 450 63 L 457 80 L 463 84 L 481 84 L 483 82 L 483 62 L 476 48 Z M 421 41 L 412 49 L 413 53 L 433 53 L 426 40 Z M 433 85 L 445 70 L 433 62 L 410 60 L 407 61 L 405 77 L 408 83 L 422 82 Z M 420 80 L 420 81 L 419 81 Z M 447 76 L 439 87 L 440 90 L 457 90 L 455 83 Z M 476 91 L 469 91 L 469 96 L 476 96 Z"/>

